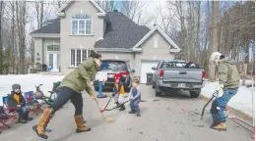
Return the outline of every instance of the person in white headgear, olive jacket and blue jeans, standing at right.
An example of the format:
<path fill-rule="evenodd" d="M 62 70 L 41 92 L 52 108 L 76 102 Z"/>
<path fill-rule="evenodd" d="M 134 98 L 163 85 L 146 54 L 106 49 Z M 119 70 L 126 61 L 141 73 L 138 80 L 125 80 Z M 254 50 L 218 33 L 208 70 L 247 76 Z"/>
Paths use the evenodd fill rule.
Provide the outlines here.
<path fill-rule="evenodd" d="M 218 66 L 220 84 L 216 89 L 219 93 L 215 95 L 217 98 L 212 103 L 210 111 L 213 118 L 213 123 L 210 127 L 217 130 L 226 130 L 224 109 L 227 102 L 237 93 L 239 74 L 235 62 L 225 58 L 219 52 L 212 54 L 211 61 Z"/>

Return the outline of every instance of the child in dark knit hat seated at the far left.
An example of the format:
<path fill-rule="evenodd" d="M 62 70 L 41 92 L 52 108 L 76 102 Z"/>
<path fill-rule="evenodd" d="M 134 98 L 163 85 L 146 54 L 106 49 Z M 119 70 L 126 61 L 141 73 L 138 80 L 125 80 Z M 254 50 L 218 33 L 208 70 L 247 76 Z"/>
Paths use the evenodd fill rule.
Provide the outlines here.
<path fill-rule="evenodd" d="M 32 118 L 29 117 L 29 107 L 26 106 L 26 99 L 22 95 L 21 85 L 13 84 L 12 89 L 11 97 L 14 98 L 16 106 L 19 108 L 18 122 L 27 123 L 27 120 L 32 120 Z"/>

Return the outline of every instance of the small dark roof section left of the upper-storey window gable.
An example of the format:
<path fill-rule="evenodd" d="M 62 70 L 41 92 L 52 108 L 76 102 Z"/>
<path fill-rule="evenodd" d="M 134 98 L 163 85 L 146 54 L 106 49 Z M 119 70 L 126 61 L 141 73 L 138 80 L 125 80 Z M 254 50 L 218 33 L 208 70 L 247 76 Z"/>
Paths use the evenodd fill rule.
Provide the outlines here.
<path fill-rule="evenodd" d="M 44 22 L 47 25 L 42 26 L 31 32 L 33 33 L 60 33 L 60 19 L 56 18 L 47 22 Z"/>

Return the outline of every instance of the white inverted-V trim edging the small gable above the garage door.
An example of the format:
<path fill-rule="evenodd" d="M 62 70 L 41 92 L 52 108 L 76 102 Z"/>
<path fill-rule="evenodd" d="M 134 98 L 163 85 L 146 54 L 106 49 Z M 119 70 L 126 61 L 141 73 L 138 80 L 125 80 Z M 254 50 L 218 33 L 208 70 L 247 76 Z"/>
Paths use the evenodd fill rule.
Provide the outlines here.
<path fill-rule="evenodd" d="M 140 41 L 133 46 L 133 50 L 142 50 L 141 45 L 144 43 L 156 30 L 160 32 L 160 34 L 164 37 L 164 39 L 171 45 L 169 47 L 170 52 L 179 52 L 180 48 L 169 38 L 169 36 L 164 32 L 164 30 L 160 27 L 160 25 L 156 24 L 154 28 L 151 29 Z"/>

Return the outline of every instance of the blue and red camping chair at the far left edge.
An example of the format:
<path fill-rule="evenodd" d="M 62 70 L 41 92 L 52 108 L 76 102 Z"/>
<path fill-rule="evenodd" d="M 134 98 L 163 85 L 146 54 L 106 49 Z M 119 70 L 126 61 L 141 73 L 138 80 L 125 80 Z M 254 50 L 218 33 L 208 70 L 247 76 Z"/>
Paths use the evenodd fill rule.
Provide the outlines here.
<path fill-rule="evenodd" d="M 3 108 L 7 109 L 7 115 L 13 122 L 18 120 L 18 109 L 16 108 L 16 102 L 10 96 L 3 96 Z"/>

